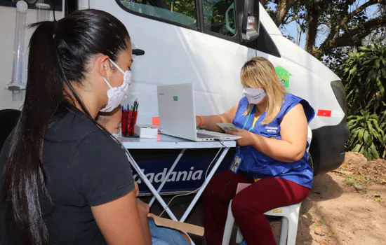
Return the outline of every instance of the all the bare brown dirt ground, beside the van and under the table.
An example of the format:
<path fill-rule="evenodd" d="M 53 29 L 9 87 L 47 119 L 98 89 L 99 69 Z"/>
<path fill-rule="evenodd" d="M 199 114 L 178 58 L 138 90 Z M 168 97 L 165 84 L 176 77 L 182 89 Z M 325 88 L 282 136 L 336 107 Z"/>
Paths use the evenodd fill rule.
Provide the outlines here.
<path fill-rule="evenodd" d="M 386 244 L 385 168 L 386 160 L 367 162 L 357 153 L 348 153 L 338 172 L 316 176 L 300 209 L 296 244 Z M 190 200 L 192 197 L 179 197 L 172 202 L 177 217 L 182 216 Z M 159 210 L 159 205 L 151 209 L 154 214 Z M 201 202 L 187 223 L 202 225 Z M 280 223 L 271 224 L 278 241 Z M 197 245 L 206 244 L 202 237 L 192 239 Z"/>

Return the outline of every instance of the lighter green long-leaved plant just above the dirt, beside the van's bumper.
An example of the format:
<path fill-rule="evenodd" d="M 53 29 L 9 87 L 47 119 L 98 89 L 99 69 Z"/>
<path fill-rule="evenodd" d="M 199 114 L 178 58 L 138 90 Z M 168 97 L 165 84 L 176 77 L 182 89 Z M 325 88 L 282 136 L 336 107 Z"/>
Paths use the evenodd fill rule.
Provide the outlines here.
<path fill-rule="evenodd" d="M 386 120 L 381 121 L 376 114 L 360 111 L 359 116 L 349 116 L 347 127 L 350 138 L 347 148 L 363 154 L 368 160 L 386 154 Z"/>

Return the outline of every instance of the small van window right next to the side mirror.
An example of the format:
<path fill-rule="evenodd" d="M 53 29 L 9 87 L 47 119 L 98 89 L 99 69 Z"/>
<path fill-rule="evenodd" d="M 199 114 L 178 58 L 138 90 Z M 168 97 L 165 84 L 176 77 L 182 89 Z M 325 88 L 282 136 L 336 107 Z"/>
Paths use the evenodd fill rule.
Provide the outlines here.
<path fill-rule="evenodd" d="M 204 29 L 225 36 L 237 32 L 236 11 L 233 0 L 202 0 Z"/>

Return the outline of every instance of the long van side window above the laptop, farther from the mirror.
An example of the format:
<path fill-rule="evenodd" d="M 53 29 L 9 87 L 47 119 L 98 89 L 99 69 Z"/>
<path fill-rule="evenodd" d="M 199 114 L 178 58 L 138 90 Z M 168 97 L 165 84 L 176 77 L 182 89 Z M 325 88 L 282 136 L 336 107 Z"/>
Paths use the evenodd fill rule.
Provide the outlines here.
<path fill-rule="evenodd" d="M 197 11 L 194 0 L 121 0 L 118 2 L 124 8 L 136 13 L 197 29 Z"/>

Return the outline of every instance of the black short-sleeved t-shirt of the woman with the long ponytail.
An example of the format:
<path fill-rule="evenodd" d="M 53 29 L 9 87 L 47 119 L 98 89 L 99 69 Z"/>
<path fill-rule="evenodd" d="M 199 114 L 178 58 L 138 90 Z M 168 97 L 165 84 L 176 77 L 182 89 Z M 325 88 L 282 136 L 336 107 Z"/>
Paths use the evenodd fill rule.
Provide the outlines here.
<path fill-rule="evenodd" d="M 0 174 L 8 150 L 9 138 L 1 149 Z M 53 205 L 42 211 L 52 244 L 106 244 L 91 207 L 133 190 L 133 175 L 124 149 L 90 119 L 71 111 L 46 132 L 43 159 L 46 188 Z M 1 174 L 0 190 L 3 183 Z M 6 233 L 8 244 L 18 244 L 18 234 L 9 230 L 4 216 L 3 222 L 6 227 L 1 228 L 0 235 Z"/>

